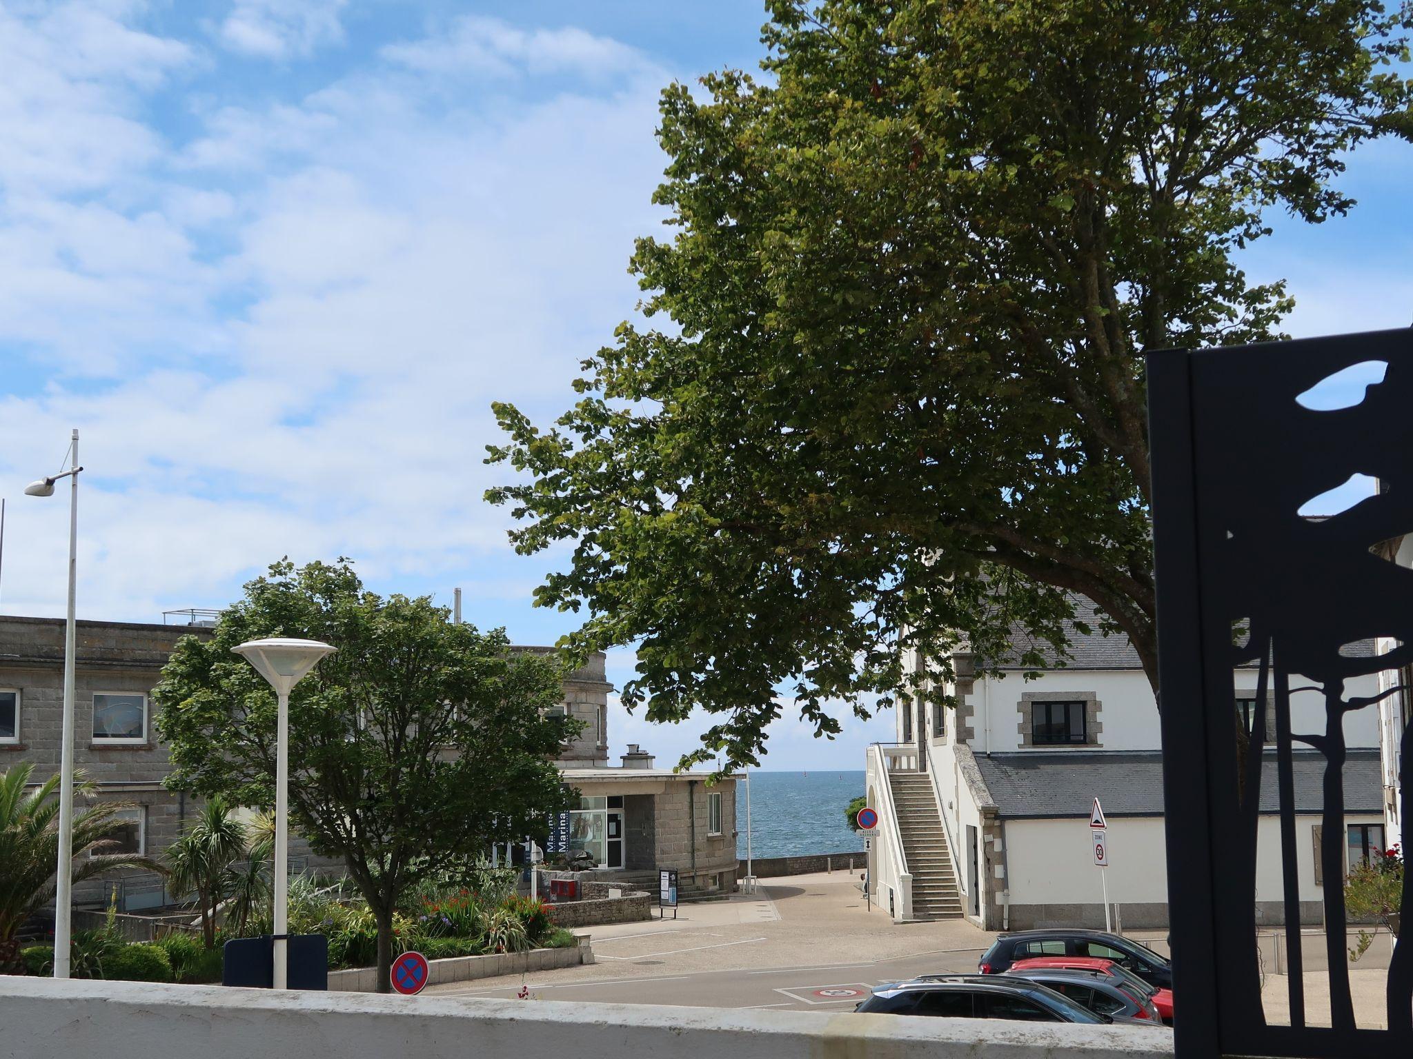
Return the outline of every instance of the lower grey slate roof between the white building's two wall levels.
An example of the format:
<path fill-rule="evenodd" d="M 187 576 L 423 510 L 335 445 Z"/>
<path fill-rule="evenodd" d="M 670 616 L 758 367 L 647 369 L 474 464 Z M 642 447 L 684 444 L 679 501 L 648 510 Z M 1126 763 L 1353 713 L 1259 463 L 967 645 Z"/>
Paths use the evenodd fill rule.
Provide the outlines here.
<path fill-rule="evenodd" d="M 1344 767 L 1345 812 L 1383 812 L 1378 750 L 1349 750 Z M 1003 818 L 1088 816 L 1094 799 L 1105 816 L 1163 815 L 1163 755 L 1156 751 L 1031 751 L 976 754 L 986 788 Z M 1318 815 L 1324 805 L 1324 757 L 1294 751 L 1296 812 Z M 1279 812 L 1276 755 L 1260 770 L 1260 810 Z"/>

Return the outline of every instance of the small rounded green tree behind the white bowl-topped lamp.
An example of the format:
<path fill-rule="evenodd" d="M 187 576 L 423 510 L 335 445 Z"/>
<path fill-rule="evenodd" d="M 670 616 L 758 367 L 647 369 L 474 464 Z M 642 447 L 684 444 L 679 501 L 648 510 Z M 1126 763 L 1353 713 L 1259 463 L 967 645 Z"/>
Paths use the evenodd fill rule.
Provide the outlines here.
<path fill-rule="evenodd" d="M 490 843 L 543 833 L 571 798 L 552 764 L 572 734 L 550 709 L 564 698 L 557 664 L 449 617 L 366 592 L 348 561 L 284 561 L 213 637 L 184 637 L 153 690 L 168 786 L 268 808 L 276 696 L 232 648 L 273 635 L 338 648 L 290 696 L 290 816 L 366 898 L 384 991 L 398 899 Z"/>

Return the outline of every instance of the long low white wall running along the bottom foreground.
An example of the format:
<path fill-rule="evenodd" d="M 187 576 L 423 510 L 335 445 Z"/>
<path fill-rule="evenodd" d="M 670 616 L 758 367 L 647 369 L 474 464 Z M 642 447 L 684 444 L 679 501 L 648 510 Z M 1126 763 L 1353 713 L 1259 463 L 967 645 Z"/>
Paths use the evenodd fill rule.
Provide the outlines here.
<path fill-rule="evenodd" d="M 0 977 L 0 1053 L 25 1059 L 1171 1059 L 1171 1034 L 998 1019 L 397 997 Z M 473 1042 L 473 1043 L 468 1043 Z"/>

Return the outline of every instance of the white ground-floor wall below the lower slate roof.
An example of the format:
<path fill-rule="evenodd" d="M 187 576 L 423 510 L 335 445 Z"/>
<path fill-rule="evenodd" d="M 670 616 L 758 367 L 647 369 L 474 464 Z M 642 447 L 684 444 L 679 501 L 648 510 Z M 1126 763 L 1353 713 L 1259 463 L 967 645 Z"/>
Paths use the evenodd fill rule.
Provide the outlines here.
<path fill-rule="evenodd" d="M 1351 815 L 1349 823 L 1379 823 L 1379 816 Z M 1296 818 L 1300 899 L 1321 901 L 1316 885 L 1314 827 L 1318 816 Z M 1010 902 L 1016 905 L 1098 904 L 1101 871 L 1108 871 L 1109 901 L 1167 901 L 1167 846 L 1156 816 L 1109 818 L 1109 867 L 1094 864 L 1089 823 L 1084 819 L 1007 820 Z M 1262 816 L 1256 850 L 1256 899 L 1282 901 L 1280 818 Z"/>

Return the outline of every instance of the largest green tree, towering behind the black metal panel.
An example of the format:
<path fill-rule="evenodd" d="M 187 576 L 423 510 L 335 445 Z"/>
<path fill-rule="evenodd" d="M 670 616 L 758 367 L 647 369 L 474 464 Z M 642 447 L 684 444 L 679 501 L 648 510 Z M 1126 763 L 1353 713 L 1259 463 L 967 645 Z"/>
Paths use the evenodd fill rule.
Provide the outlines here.
<path fill-rule="evenodd" d="M 838 731 L 828 699 L 916 690 L 958 631 L 1063 650 L 1075 596 L 1156 686 L 1142 354 L 1277 337 L 1235 254 L 1410 138 L 1413 8 L 769 8 L 766 76 L 663 93 L 647 323 L 551 429 L 496 405 L 516 546 L 577 544 L 537 602 L 588 609 L 578 652 L 637 644 L 627 706 L 722 714 L 697 760 L 755 761 L 781 685 Z"/>

